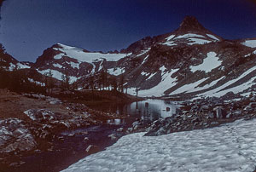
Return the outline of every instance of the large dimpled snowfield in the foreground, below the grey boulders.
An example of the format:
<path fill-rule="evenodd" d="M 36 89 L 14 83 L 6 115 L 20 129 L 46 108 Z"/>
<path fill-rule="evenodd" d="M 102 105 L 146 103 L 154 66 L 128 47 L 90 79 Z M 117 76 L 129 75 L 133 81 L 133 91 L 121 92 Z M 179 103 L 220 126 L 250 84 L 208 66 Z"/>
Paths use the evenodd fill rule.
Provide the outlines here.
<path fill-rule="evenodd" d="M 256 119 L 213 129 L 125 135 L 63 171 L 248 171 L 256 165 Z"/>

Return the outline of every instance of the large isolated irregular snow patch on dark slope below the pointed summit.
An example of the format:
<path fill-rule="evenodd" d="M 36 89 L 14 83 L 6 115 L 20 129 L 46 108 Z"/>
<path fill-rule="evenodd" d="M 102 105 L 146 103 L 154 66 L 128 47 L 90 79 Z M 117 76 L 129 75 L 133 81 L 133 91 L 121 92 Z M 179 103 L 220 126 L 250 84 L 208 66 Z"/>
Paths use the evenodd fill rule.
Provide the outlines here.
<path fill-rule="evenodd" d="M 221 65 L 221 61 L 218 60 L 215 52 L 207 53 L 207 58 L 203 60 L 203 63 L 198 66 L 190 66 L 191 72 L 204 71 L 211 72 L 212 69 Z"/>

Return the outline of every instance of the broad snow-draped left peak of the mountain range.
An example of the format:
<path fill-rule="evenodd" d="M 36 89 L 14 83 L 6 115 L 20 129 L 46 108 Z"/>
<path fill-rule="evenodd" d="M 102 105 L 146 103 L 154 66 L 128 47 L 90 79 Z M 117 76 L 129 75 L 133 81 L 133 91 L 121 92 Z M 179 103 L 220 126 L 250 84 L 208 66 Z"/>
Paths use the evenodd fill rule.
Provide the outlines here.
<path fill-rule="evenodd" d="M 42 74 L 51 71 L 58 80 L 61 80 L 62 75 L 68 74 L 71 82 L 75 82 L 80 77 L 101 71 L 103 67 L 114 66 L 116 61 L 127 55 L 129 54 L 89 52 L 57 43 L 44 51 L 34 67 Z"/>

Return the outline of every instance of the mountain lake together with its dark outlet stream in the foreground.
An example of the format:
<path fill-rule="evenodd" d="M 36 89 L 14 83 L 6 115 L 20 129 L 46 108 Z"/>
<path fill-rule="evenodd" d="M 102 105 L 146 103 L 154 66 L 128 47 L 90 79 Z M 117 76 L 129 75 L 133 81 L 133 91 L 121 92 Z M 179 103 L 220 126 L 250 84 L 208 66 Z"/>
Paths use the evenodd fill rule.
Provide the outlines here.
<path fill-rule="evenodd" d="M 103 150 L 111 146 L 116 140 L 111 140 L 108 135 L 114 134 L 118 137 L 125 135 L 117 132 L 119 128 L 127 128 L 137 119 L 143 119 L 143 124 L 147 125 L 162 117 L 171 117 L 176 113 L 177 104 L 166 100 L 143 100 L 131 104 L 104 104 L 90 106 L 103 112 L 115 112 L 119 115 L 125 115 L 125 119 L 113 119 L 106 121 L 105 124 L 90 126 L 88 128 L 73 129 L 61 132 L 64 140 L 55 140 L 54 148 L 49 152 L 39 152 L 32 156 L 21 158 L 24 162 L 20 167 L 11 171 L 20 172 L 56 172 L 66 169 L 70 164 L 77 162 L 88 154 L 85 149 L 89 145 L 98 146 Z M 69 134 L 75 134 L 69 137 Z M 88 141 L 84 141 L 88 137 Z M 1 169 L 0 169 L 1 171 Z"/>

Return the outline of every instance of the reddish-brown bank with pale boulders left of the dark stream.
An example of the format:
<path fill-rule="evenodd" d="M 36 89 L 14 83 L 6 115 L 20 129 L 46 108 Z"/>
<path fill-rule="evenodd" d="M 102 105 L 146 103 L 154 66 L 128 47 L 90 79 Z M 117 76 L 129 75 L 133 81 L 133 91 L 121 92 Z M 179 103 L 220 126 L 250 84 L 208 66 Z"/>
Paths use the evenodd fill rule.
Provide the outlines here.
<path fill-rule="evenodd" d="M 83 104 L 62 102 L 44 95 L 18 95 L 0 89 L 0 171 L 16 171 L 21 158 L 52 152 L 61 131 L 88 128 L 117 118 Z M 73 137 L 74 135 L 69 135 Z M 20 171 L 20 170 L 17 170 Z"/>

